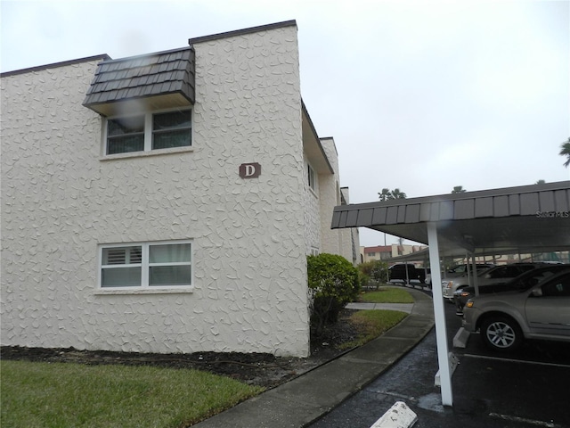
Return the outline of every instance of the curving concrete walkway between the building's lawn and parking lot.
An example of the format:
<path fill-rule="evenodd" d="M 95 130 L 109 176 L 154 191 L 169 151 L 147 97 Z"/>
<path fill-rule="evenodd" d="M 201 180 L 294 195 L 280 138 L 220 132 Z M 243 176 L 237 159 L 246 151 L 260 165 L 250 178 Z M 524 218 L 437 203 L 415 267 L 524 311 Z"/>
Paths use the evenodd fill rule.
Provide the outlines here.
<path fill-rule="evenodd" d="M 343 400 L 360 391 L 386 371 L 423 339 L 434 326 L 431 297 L 417 290 L 407 289 L 407 291 L 411 293 L 415 303 L 395 304 L 395 306 L 405 306 L 409 309 L 410 315 L 387 333 L 288 383 L 265 391 L 193 426 L 300 428 L 330 412 L 332 408 L 337 407 Z M 379 306 L 374 303 L 372 305 Z M 382 308 L 376 309 L 395 309 L 391 304 L 381 306 Z"/>

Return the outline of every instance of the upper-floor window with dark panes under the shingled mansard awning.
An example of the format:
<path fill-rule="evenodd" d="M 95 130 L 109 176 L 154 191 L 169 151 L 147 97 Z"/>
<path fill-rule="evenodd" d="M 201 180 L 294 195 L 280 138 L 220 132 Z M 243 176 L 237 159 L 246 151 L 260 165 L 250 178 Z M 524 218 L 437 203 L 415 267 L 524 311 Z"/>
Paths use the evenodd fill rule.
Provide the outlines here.
<path fill-rule="evenodd" d="M 105 154 L 191 146 L 191 111 L 176 110 L 107 119 Z"/>

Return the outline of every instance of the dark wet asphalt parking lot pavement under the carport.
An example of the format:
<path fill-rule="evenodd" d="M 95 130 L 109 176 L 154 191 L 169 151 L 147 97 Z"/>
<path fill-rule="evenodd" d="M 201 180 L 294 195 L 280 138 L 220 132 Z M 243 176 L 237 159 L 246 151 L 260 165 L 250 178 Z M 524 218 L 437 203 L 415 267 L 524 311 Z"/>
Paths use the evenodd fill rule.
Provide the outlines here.
<path fill-rule="evenodd" d="M 460 328 L 453 305 L 444 305 L 450 350 L 459 358 L 452 376 L 453 407 L 441 405 L 434 331 L 362 391 L 312 428 L 368 428 L 395 401 L 418 415 L 414 428 L 569 428 L 570 343 L 528 342 L 516 355 L 486 350 L 476 335 L 453 349 Z"/>

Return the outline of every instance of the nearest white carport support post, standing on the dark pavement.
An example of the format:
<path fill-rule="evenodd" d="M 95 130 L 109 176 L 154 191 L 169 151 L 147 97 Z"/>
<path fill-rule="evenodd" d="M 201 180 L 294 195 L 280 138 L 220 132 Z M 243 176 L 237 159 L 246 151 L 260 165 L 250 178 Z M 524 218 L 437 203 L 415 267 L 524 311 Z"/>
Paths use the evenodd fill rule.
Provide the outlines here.
<path fill-rule="evenodd" d="M 428 223 L 429 268 L 431 268 L 432 293 L 434 297 L 434 317 L 436 318 L 437 362 L 442 388 L 442 404 L 453 406 L 452 371 L 447 348 L 445 327 L 444 292 L 439 266 L 439 245 L 437 243 L 436 223 Z"/>

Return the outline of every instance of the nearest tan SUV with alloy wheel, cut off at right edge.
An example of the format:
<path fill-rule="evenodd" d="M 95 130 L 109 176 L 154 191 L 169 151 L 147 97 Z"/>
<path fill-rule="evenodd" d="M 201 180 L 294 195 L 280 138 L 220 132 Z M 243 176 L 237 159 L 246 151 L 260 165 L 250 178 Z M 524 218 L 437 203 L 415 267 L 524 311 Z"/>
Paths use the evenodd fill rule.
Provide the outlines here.
<path fill-rule="evenodd" d="M 493 350 L 517 350 L 525 339 L 570 342 L 570 269 L 522 292 L 468 300 L 462 325 Z"/>

